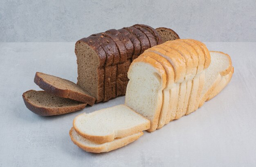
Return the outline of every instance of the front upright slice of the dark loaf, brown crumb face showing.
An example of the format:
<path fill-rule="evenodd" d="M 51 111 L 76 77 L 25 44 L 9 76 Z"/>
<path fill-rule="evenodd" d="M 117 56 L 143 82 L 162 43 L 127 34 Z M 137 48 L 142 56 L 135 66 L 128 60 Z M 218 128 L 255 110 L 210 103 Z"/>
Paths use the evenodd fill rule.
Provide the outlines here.
<path fill-rule="evenodd" d="M 77 84 L 96 98 L 104 99 L 106 53 L 97 42 L 100 37 L 90 36 L 76 42 Z"/>

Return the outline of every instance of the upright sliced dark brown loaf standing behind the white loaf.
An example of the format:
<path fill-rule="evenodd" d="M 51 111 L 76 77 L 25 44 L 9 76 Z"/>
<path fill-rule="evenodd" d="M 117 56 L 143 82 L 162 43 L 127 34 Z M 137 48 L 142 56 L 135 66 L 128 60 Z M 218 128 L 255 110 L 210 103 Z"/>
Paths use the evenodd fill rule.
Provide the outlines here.
<path fill-rule="evenodd" d="M 125 95 L 131 62 L 148 48 L 162 44 L 163 37 L 178 39 L 179 36 L 170 30 L 165 29 L 167 33 L 159 33 L 148 25 L 135 24 L 77 41 L 77 84 L 95 97 L 96 102 Z"/>

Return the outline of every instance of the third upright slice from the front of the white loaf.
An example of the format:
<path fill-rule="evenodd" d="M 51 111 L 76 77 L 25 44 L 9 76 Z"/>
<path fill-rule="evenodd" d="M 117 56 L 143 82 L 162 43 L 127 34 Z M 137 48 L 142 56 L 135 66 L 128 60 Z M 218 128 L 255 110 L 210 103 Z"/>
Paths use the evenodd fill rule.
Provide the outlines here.
<path fill-rule="evenodd" d="M 171 110 L 167 112 L 166 115 L 165 124 L 167 124 L 170 122 L 170 120 L 175 119 L 175 114 L 178 106 L 181 106 L 181 104 L 184 103 L 182 99 L 184 99 L 185 97 L 186 85 L 182 84 L 182 82 L 186 77 L 186 60 L 178 51 L 164 44 L 154 46 L 153 48 L 149 48 L 145 52 L 149 51 L 155 52 L 161 55 L 162 57 L 166 58 L 172 64 L 175 73 L 175 86 L 173 87 L 175 88 L 175 90 L 171 90 L 171 97 L 174 96 L 175 101 L 173 101 L 173 99 L 170 98 L 169 105 L 171 105 Z M 175 93 L 175 95 L 173 95 L 173 93 Z"/>

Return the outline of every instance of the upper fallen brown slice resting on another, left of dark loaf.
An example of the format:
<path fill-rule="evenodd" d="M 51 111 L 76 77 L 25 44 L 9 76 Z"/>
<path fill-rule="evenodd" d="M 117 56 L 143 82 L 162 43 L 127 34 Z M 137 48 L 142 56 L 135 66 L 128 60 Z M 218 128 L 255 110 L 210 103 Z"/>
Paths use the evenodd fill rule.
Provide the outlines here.
<path fill-rule="evenodd" d="M 41 89 L 58 97 L 81 101 L 89 105 L 93 105 L 96 100 L 88 92 L 83 90 L 83 88 L 67 79 L 36 72 L 34 82 Z"/>

